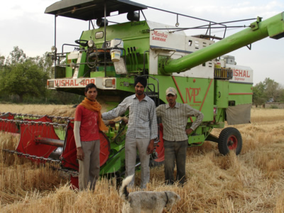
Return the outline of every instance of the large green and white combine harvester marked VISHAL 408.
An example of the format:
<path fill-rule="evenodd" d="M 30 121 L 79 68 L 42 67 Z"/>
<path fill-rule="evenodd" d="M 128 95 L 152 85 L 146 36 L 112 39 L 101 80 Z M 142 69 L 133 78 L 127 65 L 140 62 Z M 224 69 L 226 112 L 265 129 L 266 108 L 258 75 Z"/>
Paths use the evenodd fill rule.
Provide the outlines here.
<path fill-rule="evenodd" d="M 173 15 L 175 26 L 148 21 L 143 12 L 146 9 L 163 11 L 163 17 Z M 114 12 L 116 20 L 119 16 L 127 16 L 129 21 L 107 21 Z M 236 155 L 241 152 L 239 131 L 233 127 L 223 128 L 225 121 L 229 125 L 249 123 L 253 71 L 250 67 L 236 65 L 234 57 L 226 54 L 244 46 L 250 48 L 252 43 L 268 36 L 283 38 L 283 13 L 265 21 L 253 18 L 253 23 L 243 31 L 226 38 L 226 29 L 235 26 L 127 0 L 62 0 L 48 6 L 45 13 L 55 16 L 55 46 L 51 54 L 54 66 L 48 89 L 83 94 L 84 87 L 92 82 L 97 85 L 99 97 L 116 106 L 135 92 L 135 77 L 145 76 L 148 80 L 146 94 L 153 98 L 157 106 L 166 103 L 165 89 L 175 87 L 178 91 L 177 102 L 189 104 L 204 114 L 202 124 L 188 138 L 189 146 L 202 146 L 204 141 L 213 141 L 218 143 L 219 152 L 223 155 L 229 151 L 235 151 Z M 75 43 L 56 47 L 58 16 L 88 21 L 89 29 L 83 31 Z M 195 28 L 205 33 L 186 35 L 185 31 L 193 28 L 179 28 L 179 18 L 204 21 Z M 212 35 L 214 28 L 224 28 L 224 38 Z M 66 51 L 70 47 L 72 51 Z M 71 180 L 75 184 L 78 164 L 72 118 L 44 116 L 39 120 L 17 121 L 13 116 L 7 113 L 0 119 L 1 130 L 21 132 L 22 141 L 18 148 L 9 152 L 35 160 L 55 160 L 62 169 L 72 173 Z M 188 126 L 194 119 L 189 118 Z M 62 120 L 65 124 L 58 123 Z M 66 131 L 61 139 L 56 134 L 58 126 Z M 153 164 L 164 160 L 163 126 L 159 127 L 158 157 L 152 160 Z M 124 175 L 126 128 L 124 124 L 119 124 L 117 130 L 101 133 L 102 175 Z M 211 134 L 214 128 L 223 129 L 219 137 Z"/>

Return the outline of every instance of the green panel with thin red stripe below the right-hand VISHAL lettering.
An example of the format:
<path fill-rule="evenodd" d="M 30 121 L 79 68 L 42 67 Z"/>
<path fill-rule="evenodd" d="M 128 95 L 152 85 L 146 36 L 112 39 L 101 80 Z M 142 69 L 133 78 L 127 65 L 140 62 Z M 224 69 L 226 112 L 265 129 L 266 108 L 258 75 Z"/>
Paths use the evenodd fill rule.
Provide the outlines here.
<path fill-rule="evenodd" d="M 253 99 L 252 84 L 229 83 L 229 102 L 234 101 L 235 105 L 251 104 Z"/>

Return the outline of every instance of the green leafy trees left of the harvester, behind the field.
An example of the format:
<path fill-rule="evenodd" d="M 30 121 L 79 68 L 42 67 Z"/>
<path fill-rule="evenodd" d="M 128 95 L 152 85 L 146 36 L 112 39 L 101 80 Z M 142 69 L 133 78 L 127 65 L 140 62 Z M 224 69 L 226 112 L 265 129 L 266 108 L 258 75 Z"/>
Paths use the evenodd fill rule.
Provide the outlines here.
<path fill-rule="evenodd" d="M 53 59 L 48 53 L 28 57 L 18 46 L 7 58 L 0 55 L 0 102 L 28 104 L 77 104 L 78 94 L 46 88 Z"/>

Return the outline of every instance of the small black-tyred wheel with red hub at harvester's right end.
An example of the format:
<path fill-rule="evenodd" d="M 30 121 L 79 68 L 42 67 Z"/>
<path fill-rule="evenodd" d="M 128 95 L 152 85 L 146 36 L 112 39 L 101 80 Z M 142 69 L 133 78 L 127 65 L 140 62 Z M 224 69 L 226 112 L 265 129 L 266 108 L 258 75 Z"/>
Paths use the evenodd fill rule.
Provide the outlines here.
<path fill-rule="evenodd" d="M 236 155 L 239 155 L 242 146 L 243 141 L 239 130 L 234 127 L 227 127 L 221 131 L 218 139 L 219 153 L 226 155 L 229 151 L 234 151 Z"/>

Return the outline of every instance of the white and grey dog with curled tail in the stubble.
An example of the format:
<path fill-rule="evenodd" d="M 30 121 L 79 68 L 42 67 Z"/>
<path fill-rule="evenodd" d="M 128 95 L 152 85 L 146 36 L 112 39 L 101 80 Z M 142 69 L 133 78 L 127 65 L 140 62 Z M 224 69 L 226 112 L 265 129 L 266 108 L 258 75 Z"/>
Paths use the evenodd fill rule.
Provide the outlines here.
<path fill-rule="evenodd" d="M 126 200 L 122 207 L 122 212 L 126 213 L 139 213 L 155 212 L 161 213 L 165 208 L 167 211 L 172 209 L 173 205 L 180 200 L 180 196 L 175 192 L 128 192 L 127 185 L 131 182 L 133 175 L 127 177 L 122 182 L 119 189 L 119 195 Z"/>

